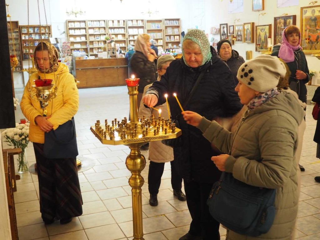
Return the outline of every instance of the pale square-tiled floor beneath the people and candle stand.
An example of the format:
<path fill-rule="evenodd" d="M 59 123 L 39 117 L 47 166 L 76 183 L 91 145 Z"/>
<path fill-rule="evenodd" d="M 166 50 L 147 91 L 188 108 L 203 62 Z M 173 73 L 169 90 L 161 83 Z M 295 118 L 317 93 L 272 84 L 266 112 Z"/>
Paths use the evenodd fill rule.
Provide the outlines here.
<path fill-rule="evenodd" d="M 45 226 L 38 202 L 36 175 L 21 174 L 15 192 L 16 214 L 20 240 L 128 240 L 132 239 L 131 188 L 125 158 L 126 146 L 102 145 L 90 132 L 97 119 L 122 119 L 129 113 L 127 87 L 80 89 L 80 107 L 75 116 L 80 156 L 92 158 L 95 166 L 79 173 L 84 200 L 83 215 L 67 225 L 56 221 Z M 16 91 L 21 99 L 22 90 Z M 320 239 L 320 185 L 314 181 L 320 176 L 320 161 L 315 157 L 316 143 L 312 141 L 316 121 L 312 119 L 313 105 L 307 107 L 307 129 L 304 134 L 300 163 L 306 168 L 301 176 L 300 209 L 296 226 L 296 238 Z M 20 107 L 16 110 L 16 122 L 23 118 Z M 5 148 L 5 144 L 4 144 Z M 148 157 L 148 152 L 142 151 Z M 35 163 L 32 145 L 27 148 L 28 164 Z M 17 169 L 17 167 L 16 167 Z M 148 161 L 142 176 L 148 180 Z M 180 202 L 172 194 L 170 164 L 165 164 L 158 194 L 159 205 L 148 204 L 148 183 L 142 187 L 143 230 L 146 240 L 177 240 L 188 232 L 190 215 L 186 202 Z M 221 239 L 226 230 L 220 228 Z"/>

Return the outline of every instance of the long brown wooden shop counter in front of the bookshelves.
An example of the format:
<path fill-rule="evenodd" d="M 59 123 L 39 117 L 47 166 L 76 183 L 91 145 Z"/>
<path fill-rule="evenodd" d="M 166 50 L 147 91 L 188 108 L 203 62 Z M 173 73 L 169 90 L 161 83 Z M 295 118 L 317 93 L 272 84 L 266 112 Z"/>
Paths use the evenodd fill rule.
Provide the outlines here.
<path fill-rule="evenodd" d="M 78 88 L 121 86 L 128 78 L 125 58 L 73 60 L 73 69 Z"/>

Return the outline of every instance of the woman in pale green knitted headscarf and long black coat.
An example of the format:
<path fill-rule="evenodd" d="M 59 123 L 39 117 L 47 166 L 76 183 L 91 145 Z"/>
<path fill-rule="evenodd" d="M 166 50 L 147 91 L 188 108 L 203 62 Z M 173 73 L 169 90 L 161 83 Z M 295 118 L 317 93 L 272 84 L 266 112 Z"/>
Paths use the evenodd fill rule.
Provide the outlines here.
<path fill-rule="evenodd" d="M 181 109 L 172 96 L 177 94 L 184 110 L 194 109 L 208 119 L 231 117 L 241 108 L 235 92 L 235 83 L 228 66 L 217 56 L 210 46 L 205 33 L 192 29 L 182 42 L 183 57 L 172 61 L 160 81 L 156 81 L 143 97 L 148 107 L 165 102 L 168 93 L 172 119 L 180 115 Z M 200 73 L 204 75 L 196 86 L 188 104 L 188 99 Z M 192 218 L 190 229 L 180 240 L 219 240 L 219 222 L 214 220 L 208 210 L 208 199 L 212 184 L 219 180 L 221 172 L 212 164 L 211 157 L 217 156 L 211 144 L 196 127 L 179 119 L 183 146 L 173 148 L 174 161 L 178 164 L 187 197 L 188 209 Z"/>

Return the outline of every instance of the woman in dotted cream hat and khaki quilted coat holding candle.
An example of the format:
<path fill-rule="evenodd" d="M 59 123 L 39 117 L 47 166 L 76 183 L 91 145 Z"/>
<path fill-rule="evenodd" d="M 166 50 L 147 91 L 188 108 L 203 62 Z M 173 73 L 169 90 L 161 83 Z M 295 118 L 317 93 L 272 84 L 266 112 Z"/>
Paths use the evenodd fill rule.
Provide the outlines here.
<path fill-rule="evenodd" d="M 248 110 L 235 133 L 195 112 L 182 112 L 188 124 L 199 128 L 221 152 L 230 153 L 212 157 L 222 177 L 276 189 L 276 215 L 269 231 L 252 237 L 229 229 L 228 240 L 293 239 L 299 202 L 295 153 L 305 114 L 293 94 L 276 88 L 285 73 L 284 63 L 265 54 L 239 68 L 236 91 Z"/>

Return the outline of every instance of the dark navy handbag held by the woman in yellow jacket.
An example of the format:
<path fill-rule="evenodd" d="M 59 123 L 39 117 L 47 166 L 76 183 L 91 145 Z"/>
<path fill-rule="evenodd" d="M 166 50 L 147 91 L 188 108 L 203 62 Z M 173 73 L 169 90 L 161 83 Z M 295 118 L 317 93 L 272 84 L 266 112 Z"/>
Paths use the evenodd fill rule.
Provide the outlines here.
<path fill-rule="evenodd" d="M 44 156 L 47 158 L 75 158 L 78 156 L 75 119 L 44 133 Z"/>

